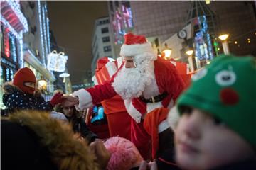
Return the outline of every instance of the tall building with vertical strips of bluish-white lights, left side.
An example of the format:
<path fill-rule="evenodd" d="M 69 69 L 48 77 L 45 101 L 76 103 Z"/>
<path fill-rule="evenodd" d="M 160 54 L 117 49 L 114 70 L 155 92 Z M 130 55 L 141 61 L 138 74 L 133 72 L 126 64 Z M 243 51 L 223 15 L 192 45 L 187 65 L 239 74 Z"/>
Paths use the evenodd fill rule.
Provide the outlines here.
<path fill-rule="evenodd" d="M 46 100 L 53 96 L 55 76 L 47 69 L 47 55 L 50 53 L 50 30 L 46 1 L 20 1 L 21 10 L 29 23 L 28 33 L 23 34 L 24 67 L 29 67 L 36 79 L 45 80 L 42 89 Z"/>

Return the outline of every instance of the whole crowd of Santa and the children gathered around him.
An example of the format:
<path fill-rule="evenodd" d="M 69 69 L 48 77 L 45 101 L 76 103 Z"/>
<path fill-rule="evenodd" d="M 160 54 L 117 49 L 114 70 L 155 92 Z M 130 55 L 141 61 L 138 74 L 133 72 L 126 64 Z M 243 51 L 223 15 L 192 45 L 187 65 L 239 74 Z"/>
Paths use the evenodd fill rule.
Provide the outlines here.
<path fill-rule="evenodd" d="M 3 85 L 1 168 L 256 169 L 254 57 L 215 57 L 185 89 L 144 36 L 124 40 L 124 62 L 104 84 L 44 101 L 22 68 Z M 131 139 L 99 139 L 80 112 L 117 94 L 132 117 Z"/>

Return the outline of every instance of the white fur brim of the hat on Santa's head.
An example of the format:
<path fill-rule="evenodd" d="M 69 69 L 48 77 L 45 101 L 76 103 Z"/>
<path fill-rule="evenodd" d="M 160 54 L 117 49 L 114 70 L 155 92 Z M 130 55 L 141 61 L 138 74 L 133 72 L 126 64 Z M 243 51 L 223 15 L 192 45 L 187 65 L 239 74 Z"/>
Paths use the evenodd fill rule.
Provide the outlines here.
<path fill-rule="evenodd" d="M 142 55 L 143 53 L 151 53 L 152 56 L 148 56 L 151 61 L 157 59 L 156 52 L 154 52 L 150 42 L 144 44 L 134 44 L 134 45 L 122 45 L 120 55 L 121 56 L 134 56 L 134 60 L 137 60 L 137 55 Z M 143 56 L 147 57 L 147 56 Z M 139 61 L 142 61 L 141 59 Z"/>

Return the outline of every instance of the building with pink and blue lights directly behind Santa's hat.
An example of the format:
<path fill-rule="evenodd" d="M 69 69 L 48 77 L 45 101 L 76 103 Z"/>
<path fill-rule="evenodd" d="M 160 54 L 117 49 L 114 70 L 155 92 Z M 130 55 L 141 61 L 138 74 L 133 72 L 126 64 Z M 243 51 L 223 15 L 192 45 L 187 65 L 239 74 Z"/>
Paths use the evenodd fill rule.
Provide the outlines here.
<path fill-rule="evenodd" d="M 134 23 L 130 3 L 132 1 L 107 1 L 114 59 L 119 57 L 120 47 L 124 43 L 124 35 L 133 30 Z"/>

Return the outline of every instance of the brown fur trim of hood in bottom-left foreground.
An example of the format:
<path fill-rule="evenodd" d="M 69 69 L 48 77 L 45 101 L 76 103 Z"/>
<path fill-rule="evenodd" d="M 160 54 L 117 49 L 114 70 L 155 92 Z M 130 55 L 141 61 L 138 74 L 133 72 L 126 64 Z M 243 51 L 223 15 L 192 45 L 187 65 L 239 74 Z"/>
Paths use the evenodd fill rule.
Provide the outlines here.
<path fill-rule="evenodd" d="M 69 124 L 40 111 L 18 111 L 7 120 L 24 125 L 36 133 L 58 169 L 98 169 L 95 155 L 84 140 L 78 140 Z"/>

